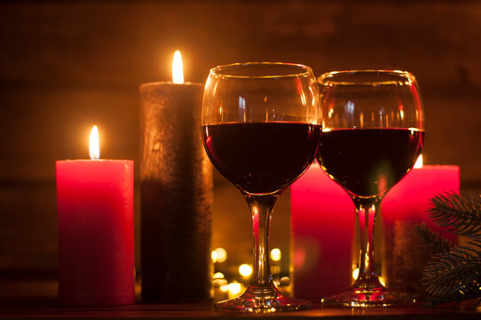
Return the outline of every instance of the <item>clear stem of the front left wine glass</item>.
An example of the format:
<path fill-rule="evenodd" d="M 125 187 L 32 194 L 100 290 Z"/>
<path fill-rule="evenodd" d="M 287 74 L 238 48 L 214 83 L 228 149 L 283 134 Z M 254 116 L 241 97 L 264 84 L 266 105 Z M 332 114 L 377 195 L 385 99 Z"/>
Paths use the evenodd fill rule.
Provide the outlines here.
<path fill-rule="evenodd" d="M 246 195 L 246 201 L 252 214 L 254 232 L 254 264 L 249 287 L 258 289 L 272 287 L 271 268 L 269 267 L 269 228 L 276 200 L 277 196 Z"/>

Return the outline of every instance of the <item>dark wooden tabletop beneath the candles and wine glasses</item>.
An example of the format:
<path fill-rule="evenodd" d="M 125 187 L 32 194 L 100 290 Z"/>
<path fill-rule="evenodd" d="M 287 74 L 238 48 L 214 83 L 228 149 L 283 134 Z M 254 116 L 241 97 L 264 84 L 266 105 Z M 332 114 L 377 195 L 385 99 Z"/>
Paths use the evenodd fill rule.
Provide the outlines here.
<path fill-rule="evenodd" d="M 189 304 L 136 304 L 109 308 L 62 308 L 57 304 L 54 280 L 0 279 L 0 318 L 109 318 L 109 319 L 231 319 L 268 316 L 276 319 L 481 319 L 477 310 L 448 308 L 333 308 L 314 303 L 310 310 L 276 314 L 235 314 L 216 312 L 211 302 Z"/>

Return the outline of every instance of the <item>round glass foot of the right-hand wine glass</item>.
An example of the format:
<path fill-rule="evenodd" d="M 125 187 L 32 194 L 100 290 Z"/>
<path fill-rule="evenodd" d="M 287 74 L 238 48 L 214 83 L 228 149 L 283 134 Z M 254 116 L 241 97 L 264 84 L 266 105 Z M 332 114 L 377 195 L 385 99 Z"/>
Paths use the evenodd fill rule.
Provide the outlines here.
<path fill-rule="evenodd" d="M 348 292 L 323 299 L 322 303 L 327 306 L 376 308 L 408 306 L 413 304 L 414 300 L 381 287 L 369 290 L 351 288 Z"/>

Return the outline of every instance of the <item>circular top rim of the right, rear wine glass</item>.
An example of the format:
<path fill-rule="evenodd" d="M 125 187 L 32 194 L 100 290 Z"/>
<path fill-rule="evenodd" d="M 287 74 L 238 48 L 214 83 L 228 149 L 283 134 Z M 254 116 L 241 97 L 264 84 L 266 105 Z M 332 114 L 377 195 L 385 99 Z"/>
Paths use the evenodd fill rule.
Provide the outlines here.
<path fill-rule="evenodd" d="M 359 76 L 356 77 L 356 76 Z M 364 76 L 372 76 L 369 81 Z M 379 77 L 379 78 L 376 78 Z M 402 70 L 382 70 L 382 69 L 366 69 L 366 70 L 342 70 L 327 72 L 318 77 L 318 82 L 326 85 L 373 85 L 373 84 L 396 84 L 401 79 L 406 79 L 408 84 L 415 83 L 415 77 L 412 73 Z M 402 81 L 401 81 L 402 83 Z"/>

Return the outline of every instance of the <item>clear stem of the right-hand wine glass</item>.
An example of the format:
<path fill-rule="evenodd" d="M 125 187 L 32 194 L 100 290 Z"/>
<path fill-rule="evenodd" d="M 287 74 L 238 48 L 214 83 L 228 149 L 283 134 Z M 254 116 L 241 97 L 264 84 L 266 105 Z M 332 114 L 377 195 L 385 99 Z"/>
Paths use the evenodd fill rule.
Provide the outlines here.
<path fill-rule="evenodd" d="M 375 214 L 381 203 L 382 197 L 369 198 L 353 197 L 358 213 L 359 235 L 360 235 L 360 256 L 359 276 L 354 283 L 355 288 L 373 289 L 382 287 L 375 271 Z"/>

